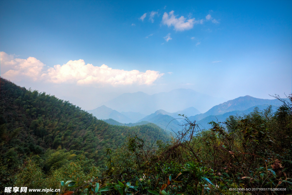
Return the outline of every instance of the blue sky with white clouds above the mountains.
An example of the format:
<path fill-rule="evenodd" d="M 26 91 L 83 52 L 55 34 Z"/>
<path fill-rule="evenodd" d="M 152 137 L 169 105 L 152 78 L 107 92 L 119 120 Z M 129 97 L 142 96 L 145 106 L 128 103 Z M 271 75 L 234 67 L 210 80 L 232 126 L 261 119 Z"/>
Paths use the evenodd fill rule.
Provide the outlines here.
<path fill-rule="evenodd" d="M 271 99 L 291 93 L 291 13 L 292 1 L 0 1 L 1 77 L 84 109 L 176 88 Z M 67 63 L 79 59 L 93 67 Z M 87 80 L 64 79 L 64 64 Z M 103 64 L 117 71 L 90 73 Z"/>

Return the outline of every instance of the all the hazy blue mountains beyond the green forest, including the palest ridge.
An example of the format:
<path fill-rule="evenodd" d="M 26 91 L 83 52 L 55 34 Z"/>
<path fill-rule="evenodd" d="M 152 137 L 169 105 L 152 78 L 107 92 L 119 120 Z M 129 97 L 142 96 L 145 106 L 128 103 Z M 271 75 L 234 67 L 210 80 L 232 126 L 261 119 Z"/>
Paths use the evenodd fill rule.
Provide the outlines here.
<path fill-rule="evenodd" d="M 254 109 L 264 110 L 270 105 L 272 111 L 276 111 L 281 103 L 277 99 L 260 99 L 249 95 L 220 103 L 222 101 L 223 98 L 211 97 L 191 89 L 176 89 L 154 95 L 136 92 L 124 93 L 87 112 L 112 125 L 137 126 L 154 123 L 168 132 L 177 133 L 182 130 L 185 121 L 179 114 L 188 117 L 190 121 L 196 121 L 200 128 L 208 129 L 212 127 L 208 124 L 211 121 L 223 122 L 229 116 L 244 116 Z M 205 111 L 210 105 L 214 106 L 208 111 L 199 111 Z"/>

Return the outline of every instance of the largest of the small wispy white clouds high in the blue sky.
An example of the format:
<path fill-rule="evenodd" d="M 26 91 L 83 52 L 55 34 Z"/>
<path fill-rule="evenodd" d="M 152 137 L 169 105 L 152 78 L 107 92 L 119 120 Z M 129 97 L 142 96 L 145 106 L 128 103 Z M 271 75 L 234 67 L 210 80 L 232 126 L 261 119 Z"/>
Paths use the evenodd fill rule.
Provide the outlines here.
<path fill-rule="evenodd" d="M 187 20 L 187 18 L 183 16 L 181 16 L 180 18 L 176 18 L 176 16 L 173 15 L 173 13 L 174 11 L 169 12 L 169 14 L 164 12 L 162 17 L 162 23 L 164 25 L 167 25 L 168 27 L 174 26 L 174 29 L 176 31 L 192 29 L 194 27 L 194 24 L 199 23 L 199 21 L 196 21 L 195 18 L 189 20 Z"/>

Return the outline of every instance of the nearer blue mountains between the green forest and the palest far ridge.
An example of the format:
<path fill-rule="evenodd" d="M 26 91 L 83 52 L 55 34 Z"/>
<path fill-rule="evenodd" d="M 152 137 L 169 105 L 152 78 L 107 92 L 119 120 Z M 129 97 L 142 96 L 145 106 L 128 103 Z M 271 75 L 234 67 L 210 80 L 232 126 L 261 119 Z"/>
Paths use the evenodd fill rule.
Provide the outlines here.
<path fill-rule="evenodd" d="M 281 102 L 277 99 L 260 99 L 246 95 L 244 97 L 238 97 L 234 100 L 229 100 L 222 104 L 213 106 L 203 114 L 201 114 L 196 108 L 189 107 L 187 109 L 173 113 L 159 109 L 154 113 L 145 116 L 145 114 L 141 114 L 139 112 L 120 113 L 116 110 L 106 107 L 105 105 L 88 112 L 93 113 L 93 115 L 99 119 L 104 119 L 104 121 L 108 122 L 109 124 L 120 126 L 135 126 L 141 124 L 142 121 L 148 121 L 150 123 L 156 124 L 162 129 L 178 132 L 181 130 L 183 124 L 183 117 L 178 116 L 178 114 L 184 114 L 184 116 L 188 116 L 190 121 L 197 121 L 197 124 L 200 124 L 201 128 L 211 128 L 211 125 L 208 124 L 210 121 L 223 122 L 231 115 L 242 116 L 252 112 L 255 107 L 263 110 L 266 109 L 269 105 L 281 105 Z"/>

